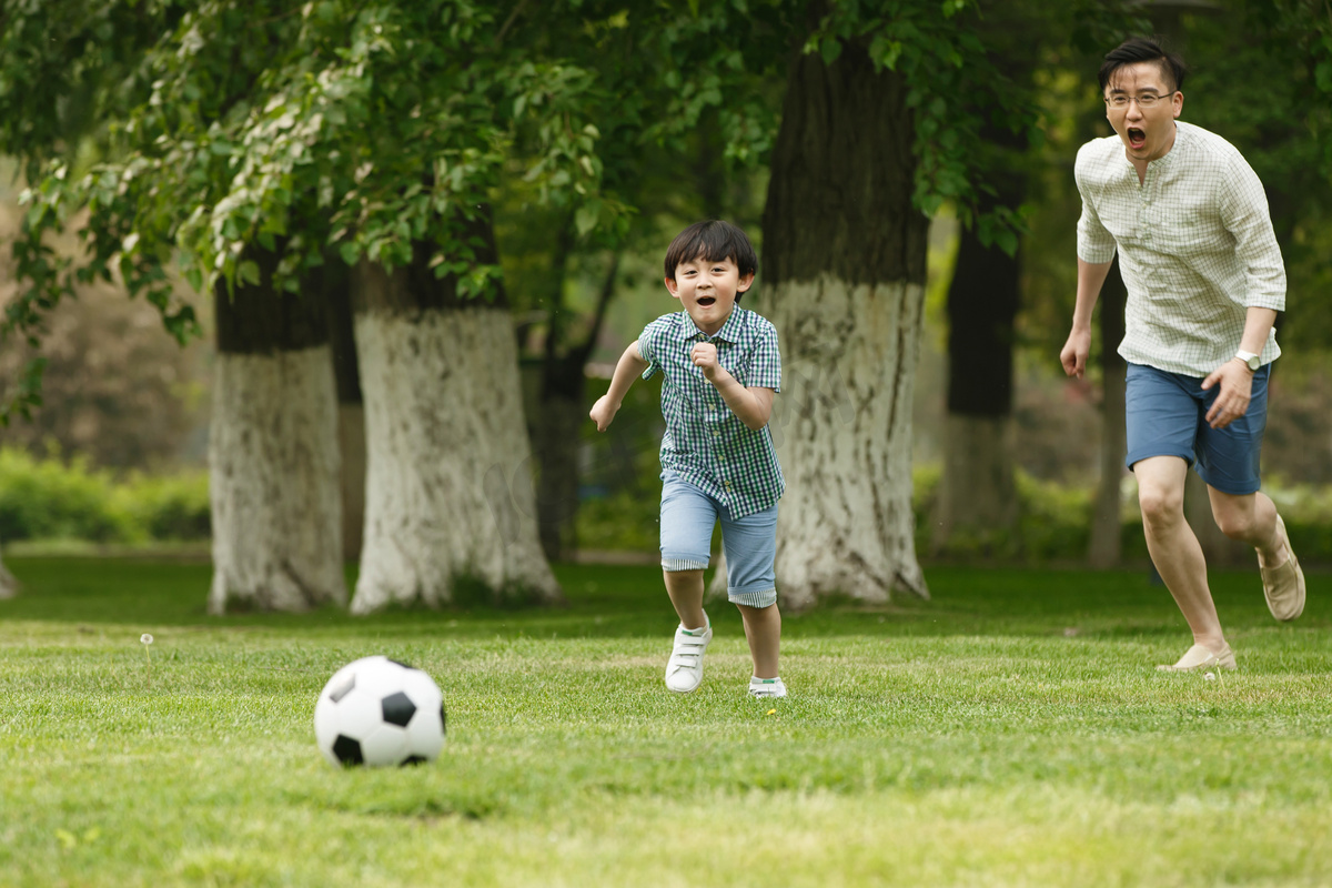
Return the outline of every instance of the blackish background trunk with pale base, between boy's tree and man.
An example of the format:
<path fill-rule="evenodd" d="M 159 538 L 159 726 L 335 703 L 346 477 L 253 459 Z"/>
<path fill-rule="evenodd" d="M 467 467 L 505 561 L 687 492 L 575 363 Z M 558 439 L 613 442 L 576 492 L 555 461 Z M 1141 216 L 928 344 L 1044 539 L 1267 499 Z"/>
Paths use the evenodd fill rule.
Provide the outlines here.
<path fill-rule="evenodd" d="M 1004 185 L 984 209 L 1022 204 L 1019 174 Z M 948 434 L 931 522 L 934 553 L 955 538 L 1002 546 L 1018 526 L 1012 349 L 1022 268 L 1016 256 L 982 244 L 975 225 L 959 237 L 948 286 Z"/>

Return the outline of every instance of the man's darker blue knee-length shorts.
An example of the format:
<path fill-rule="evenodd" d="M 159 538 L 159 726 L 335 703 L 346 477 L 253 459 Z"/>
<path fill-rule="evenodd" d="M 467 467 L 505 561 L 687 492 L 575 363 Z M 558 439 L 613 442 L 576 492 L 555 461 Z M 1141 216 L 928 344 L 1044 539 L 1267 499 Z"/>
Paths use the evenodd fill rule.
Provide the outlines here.
<path fill-rule="evenodd" d="M 1212 429 L 1204 417 L 1220 386 L 1204 391 L 1197 377 L 1130 363 L 1124 389 L 1128 431 L 1124 465 L 1132 469 L 1148 457 L 1179 457 L 1223 494 L 1243 497 L 1257 491 L 1269 375 L 1271 365 L 1259 367 L 1248 411 L 1224 429 Z"/>

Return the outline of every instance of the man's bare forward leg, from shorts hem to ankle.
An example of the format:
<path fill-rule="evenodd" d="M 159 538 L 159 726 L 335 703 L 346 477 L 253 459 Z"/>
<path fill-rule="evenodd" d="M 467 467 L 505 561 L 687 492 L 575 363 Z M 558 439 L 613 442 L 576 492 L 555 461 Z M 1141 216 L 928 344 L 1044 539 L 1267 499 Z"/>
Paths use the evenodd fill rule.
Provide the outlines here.
<path fill-rule="evenodd" d="M 1166 588 L 1175 596 L 1193 643 L 1220 654 L 1227 650 L 1212 591 L 1207 586 L 1207 560 L 1197 537 L 1184 521 L 1184 481 L 1188 463 L 1179 457 L 1150 457 L 1134 463 L 1138 502 L 1143 510 L 1147 551 Z"/>

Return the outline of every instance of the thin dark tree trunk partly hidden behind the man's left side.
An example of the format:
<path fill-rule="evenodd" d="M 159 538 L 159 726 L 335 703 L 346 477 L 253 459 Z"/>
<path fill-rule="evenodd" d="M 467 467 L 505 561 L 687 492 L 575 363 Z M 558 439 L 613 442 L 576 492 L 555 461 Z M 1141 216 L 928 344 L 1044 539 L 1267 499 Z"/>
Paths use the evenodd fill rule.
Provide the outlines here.
<path fill-rule="evenodd" d="M 1100 482 L 1092 507 L 1087 560 L 1092 567 L 1114 567 L 1124 554 L 1120 519 L 1120 483 L 1128 439 L 1124 429 L 1124 373 L 1119 343 L 1124 338 L 1124 280 L 1119 258 L 1110 268 L 1100 289 Z"/>

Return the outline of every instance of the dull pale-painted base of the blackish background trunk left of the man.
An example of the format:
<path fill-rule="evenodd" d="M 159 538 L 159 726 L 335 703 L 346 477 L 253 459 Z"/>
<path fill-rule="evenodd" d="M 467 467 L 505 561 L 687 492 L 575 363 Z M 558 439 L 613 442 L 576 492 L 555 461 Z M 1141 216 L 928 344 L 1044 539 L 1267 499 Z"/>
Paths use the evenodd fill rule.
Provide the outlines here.
<path fill-rule="evenodd" d="M 1012 417 L 948 414 L 946 427 L 931 550 L 963 541 L 990 549 L 1012 542 L 1018 526 Z"/>

